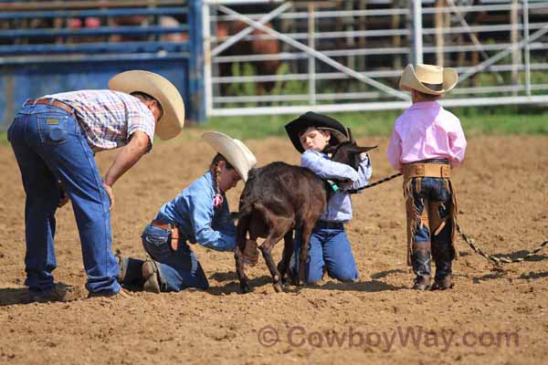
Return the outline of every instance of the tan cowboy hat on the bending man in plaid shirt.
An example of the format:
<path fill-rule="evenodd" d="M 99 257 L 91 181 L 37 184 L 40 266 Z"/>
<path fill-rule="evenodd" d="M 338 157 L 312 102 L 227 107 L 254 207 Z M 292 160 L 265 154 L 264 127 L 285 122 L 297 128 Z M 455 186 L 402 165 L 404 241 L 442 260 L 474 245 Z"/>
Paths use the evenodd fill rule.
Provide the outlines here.
<path fill-rule="evenodd" d="M 166 78 L 149 71 L 126 71 L 109 80 L 109 89 L 126 94 L 140 91 L 158 100 L 163 115 L 156 124 L 155 132 L 162 140 L 174 138 L 183 129 L 183 98 Z"/>

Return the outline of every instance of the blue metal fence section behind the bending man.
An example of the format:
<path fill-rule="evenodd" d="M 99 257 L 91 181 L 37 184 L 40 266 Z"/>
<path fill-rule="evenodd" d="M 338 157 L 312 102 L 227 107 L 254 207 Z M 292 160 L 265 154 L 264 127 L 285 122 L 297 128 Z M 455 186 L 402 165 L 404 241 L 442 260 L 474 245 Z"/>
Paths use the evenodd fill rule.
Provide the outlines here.
<path fill-rule="evenodd" d="M 0 130 L 27 98 L 104 89 L 118 72 L 171 80 L 204 120 L 202 5 L 182 0 L 1 1 Z"/>

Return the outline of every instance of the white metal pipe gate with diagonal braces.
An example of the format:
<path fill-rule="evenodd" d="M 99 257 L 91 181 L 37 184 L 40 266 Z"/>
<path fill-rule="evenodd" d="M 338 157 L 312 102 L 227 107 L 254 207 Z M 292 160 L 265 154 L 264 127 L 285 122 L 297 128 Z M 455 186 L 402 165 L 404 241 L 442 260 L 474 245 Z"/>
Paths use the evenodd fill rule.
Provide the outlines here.
<path fill-rule="evenodd" d="M 548 101 L 548 1 L 205 0 L 203 8 L 208 116 L 406 108 L 397 83 L 411 62 L 458 69 L 444 105 Z"/>

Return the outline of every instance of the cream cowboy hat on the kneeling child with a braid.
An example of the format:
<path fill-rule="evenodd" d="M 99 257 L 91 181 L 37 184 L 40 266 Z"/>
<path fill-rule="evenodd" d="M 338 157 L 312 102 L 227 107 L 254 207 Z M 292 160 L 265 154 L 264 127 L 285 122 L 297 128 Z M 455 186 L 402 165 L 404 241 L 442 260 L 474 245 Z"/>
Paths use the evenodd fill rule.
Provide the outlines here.
<path fill-rule="evenodd" d="M 248 172 L 255 166 L 257 159 L 244 143 L 220 131 L 205 132 L 202 139 L 234 166 L 244 182 L 248 181 Z"/>

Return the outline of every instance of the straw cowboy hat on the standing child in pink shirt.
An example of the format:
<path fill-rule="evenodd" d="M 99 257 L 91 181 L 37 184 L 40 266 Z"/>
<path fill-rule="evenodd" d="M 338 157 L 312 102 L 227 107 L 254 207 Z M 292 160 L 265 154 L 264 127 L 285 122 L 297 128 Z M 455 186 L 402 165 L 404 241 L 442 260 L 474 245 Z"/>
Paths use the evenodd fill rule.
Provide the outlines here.
<path fill-rule="evenodd" d="M 458 74 L 455 68 L 423 64 L 413 68 L 413 65 L 407 65 L 400 78 L 400 89 L 407 91 L 414 89 L 425 94 L 441 95 L 455 88 L 457 82 Z"/>

